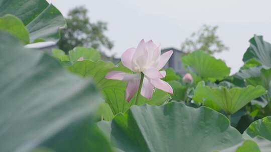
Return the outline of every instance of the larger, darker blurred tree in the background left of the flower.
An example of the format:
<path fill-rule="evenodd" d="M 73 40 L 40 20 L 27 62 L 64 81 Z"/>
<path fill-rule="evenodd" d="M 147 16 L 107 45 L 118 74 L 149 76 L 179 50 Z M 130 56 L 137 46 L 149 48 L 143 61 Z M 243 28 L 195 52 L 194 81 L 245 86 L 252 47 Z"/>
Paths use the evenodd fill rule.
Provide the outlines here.
<path fill-rule="evenodd" d="M 87 16 L 88 10 L 83 7 L 75 7 L 70 10 L 66 18 L 67 28 L 61 30 L 61 39 L 58 42 L 60 49 L 65 52 L 75 46 L 93 47 L 101 50 L 103 47 L 111 49 L 113 43 L 104 32 L 107 24 L 103 21 L 90 22 Z"/>

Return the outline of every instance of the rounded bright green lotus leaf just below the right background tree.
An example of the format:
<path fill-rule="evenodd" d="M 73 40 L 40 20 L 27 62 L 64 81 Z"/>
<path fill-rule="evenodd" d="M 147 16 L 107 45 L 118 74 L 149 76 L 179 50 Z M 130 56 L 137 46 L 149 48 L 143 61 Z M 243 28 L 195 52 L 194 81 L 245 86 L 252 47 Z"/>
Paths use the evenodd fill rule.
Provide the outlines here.
<path fill-rule="evenodd" d="M 203 80 L 223 79 L 230 73 L 230 68 L 221 59 L 197 50 L 182 57 L 185 68 Z"/>

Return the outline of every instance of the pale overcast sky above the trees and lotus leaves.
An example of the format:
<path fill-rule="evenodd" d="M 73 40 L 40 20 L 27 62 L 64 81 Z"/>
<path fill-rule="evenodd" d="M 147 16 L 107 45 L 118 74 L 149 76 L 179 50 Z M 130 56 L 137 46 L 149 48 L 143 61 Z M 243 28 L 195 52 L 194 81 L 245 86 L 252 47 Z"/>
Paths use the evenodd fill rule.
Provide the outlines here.
<path fill-rule="evenodd" d="M 218 25 L 220 39 L 229 51 L 215 54 L 231 72 L 243 64 L 242 56 L 253 34 L 271 42 L 271 0 L 48 0 L 63 15 L 84 5 L 92 21 L 108 23 L 106 33 L 114 41 L 112 52 L 120 56 L 144 38 L 163 47 L 180 48 L 182 41 L 202 24 Z"/>

